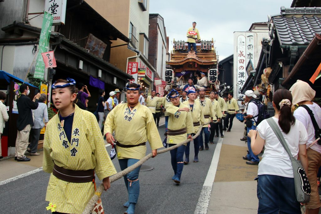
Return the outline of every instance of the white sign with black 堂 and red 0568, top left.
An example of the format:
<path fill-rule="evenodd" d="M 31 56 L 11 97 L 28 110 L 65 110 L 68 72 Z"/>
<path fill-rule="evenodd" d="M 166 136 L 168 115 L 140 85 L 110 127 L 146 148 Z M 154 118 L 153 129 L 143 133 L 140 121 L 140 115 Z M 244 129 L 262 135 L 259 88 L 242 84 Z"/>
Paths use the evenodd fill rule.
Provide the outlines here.
<path fill-rule="evenodd" d="M 65 24 L 67 0 L 45 0 L 45 11 L 53 16 L 52 25 Z"/>

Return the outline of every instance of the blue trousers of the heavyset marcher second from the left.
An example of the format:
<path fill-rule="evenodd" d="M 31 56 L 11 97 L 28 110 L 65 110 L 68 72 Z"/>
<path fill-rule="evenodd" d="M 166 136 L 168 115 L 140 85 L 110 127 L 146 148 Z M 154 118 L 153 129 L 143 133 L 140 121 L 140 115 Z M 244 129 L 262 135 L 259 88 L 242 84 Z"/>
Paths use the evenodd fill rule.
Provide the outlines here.
<path fill-rule="evenodd" d="M 118 159 L 120 169 L 123 171 L 127 167 L 137 163 L 138 159 L 126 158 Z M 128 191 L 129 203 L 137 203 L 139 197 L 139 175 L 140 166 L 124 176 L 125 185 Z"/>

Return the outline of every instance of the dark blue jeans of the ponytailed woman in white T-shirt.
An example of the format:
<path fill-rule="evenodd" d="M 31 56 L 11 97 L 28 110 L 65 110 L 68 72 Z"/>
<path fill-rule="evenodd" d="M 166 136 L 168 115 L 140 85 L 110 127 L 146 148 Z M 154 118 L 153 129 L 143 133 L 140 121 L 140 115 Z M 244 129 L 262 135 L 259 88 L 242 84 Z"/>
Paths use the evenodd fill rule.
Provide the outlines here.
<path fill-rule="evenodd" d="M 258 175 L 257 198 L 258 214 L 301 214 L 300 203 L 295 196 L 294 178 L 269 174 Z"/>

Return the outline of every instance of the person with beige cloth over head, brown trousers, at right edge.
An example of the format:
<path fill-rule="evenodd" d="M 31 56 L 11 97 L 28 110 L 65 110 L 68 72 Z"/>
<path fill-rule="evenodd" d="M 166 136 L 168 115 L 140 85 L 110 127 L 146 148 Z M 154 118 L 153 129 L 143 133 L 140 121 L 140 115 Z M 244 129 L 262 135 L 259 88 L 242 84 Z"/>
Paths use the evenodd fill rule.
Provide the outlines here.
<path fill-rule="evenodd" d="M 306 105 L 313 113 L 318 128 L 321 127 L 321 108 L 311 100 L 314 99 L 316 91 L 306 82 L 298 80 L 290 88 L 293 100 L 292 104 L 298 104 L 299 107 L 293 112 L 295 119 L 301 121 L 308 132 L 307 156 L 308 156 L 308 179 L 311 185 L 310 201 L 305 204 L 306 213 L 319 213 L 321 207 L 318 187 L 317 171 L 321 166 L 321 145 L 316 140 L 315 129 L 308 111 L 302 107 Z"/>

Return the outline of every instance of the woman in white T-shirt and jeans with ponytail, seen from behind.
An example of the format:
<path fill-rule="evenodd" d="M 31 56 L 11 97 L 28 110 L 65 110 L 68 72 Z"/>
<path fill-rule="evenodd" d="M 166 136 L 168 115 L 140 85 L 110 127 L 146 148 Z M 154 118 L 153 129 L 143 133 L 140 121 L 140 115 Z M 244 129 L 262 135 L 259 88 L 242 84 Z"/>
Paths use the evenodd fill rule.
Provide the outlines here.
<path fill-rule="evenodd" d="M 300 159 L 306 173 L 308 158 L 306 143 L 307 131 L 291 113 L 292 95 L 286 89 L 279 89 L 273 94 L 274 121 L 290 148 L 292 156 Z M 258 133 L 258 134 L 257 134 Z M 251 148 L 258 155 L 265 147 L 258 167 L 257 213 L 301 214 L 300 203 L 296 200 L 293 170 L 288 153 L 274 134 L 266 120 L 256 130 L 250 130 Z"/>

